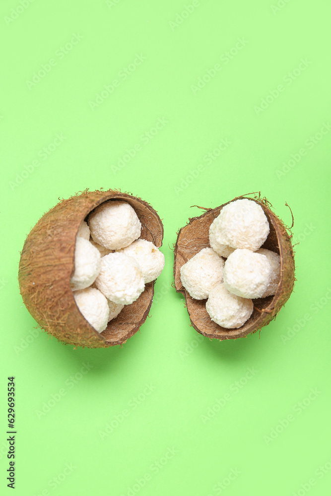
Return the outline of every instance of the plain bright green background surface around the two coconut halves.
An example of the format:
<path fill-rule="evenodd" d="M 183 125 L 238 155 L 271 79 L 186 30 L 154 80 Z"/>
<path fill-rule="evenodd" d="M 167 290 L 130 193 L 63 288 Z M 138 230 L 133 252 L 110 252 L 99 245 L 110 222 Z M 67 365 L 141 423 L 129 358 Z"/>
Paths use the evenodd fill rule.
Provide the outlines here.
<path fill-rule="evenodd" d="M 12 374 L 16 495 L 329 494 L 330 14 L 326 0 L 1 4 L 3 494 Z M 140 332 L 74 350 L 36 330 L 19 252 L 59 197 L 100 187 L 153 205 L 166 265 Z M 208 340 L 171 287 L 171 248 L 191 205 L 251 191 L 287 225 L 293 211 L 295 290 L 260 336 Z"/>

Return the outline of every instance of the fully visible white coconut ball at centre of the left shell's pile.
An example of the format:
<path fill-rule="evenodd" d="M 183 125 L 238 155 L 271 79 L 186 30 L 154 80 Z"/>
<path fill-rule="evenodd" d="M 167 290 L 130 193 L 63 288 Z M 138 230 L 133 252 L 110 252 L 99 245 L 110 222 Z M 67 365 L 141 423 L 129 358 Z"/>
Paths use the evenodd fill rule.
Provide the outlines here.
<path fill-rule="evenodd" d="M 138 262 L 125 253 L 109 253 L 101 258 L 95 285 L 114 303 L 130 305 L 143 292 L 145 283 Z"/>

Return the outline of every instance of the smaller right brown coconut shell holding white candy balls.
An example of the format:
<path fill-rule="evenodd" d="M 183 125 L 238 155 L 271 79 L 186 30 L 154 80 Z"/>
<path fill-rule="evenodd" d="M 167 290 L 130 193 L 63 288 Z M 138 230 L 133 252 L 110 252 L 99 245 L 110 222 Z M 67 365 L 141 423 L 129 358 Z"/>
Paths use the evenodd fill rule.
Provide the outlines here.
<path fill-rule="evenodd" d="M 231 201 L 246 198 L 238 196 Z M 185 296 L 186 307 L 193 327 L 204 336 L 216 339 L 236 339 L 256 332 L 272 320 L 288 300 L 294 286 L 294 256 L 291 236 L 288 235 L 283 222 L 272 212 L 270 203 L 264 198 L 248 198 L 263 208 L 269 221 L 270 232 L 261 248 L 266 248 L 280 255 L 280 281 L 274 296 L 254 299 L 251 317 L 238 329 L 226 329 L 211 320 L 205 308 L 206 300 L 195 300 L 183 287 L 180 269 L 184 263 L 202 248 L 210 248 L 209 226 L 227 203 L 207 210 L 199 217 L 189 219 L 189 223 L 178 232 L 175 245 L 174 278 L 176 291 Z"/>

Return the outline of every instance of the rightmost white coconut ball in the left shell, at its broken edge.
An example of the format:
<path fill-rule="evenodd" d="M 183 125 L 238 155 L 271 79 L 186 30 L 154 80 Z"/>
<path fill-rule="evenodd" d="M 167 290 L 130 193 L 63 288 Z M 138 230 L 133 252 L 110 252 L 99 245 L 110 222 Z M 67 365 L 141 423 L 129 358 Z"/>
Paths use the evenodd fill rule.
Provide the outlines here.
<path fill-rule="evenodd" d="M 164 254 L 151 241 L 136 240 L 127 248 L 117 250 L 138 262 L 145 284 L 156 279 L 164 267 Z"/>

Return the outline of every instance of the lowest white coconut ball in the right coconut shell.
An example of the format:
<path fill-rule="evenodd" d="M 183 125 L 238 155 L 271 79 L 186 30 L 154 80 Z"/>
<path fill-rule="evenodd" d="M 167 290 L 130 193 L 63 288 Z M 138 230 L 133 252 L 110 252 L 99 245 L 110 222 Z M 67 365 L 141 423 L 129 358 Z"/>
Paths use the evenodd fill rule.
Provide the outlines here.
<path fill-rule="evenodd" d="M 206 310 L 216 324 L 233 329 L 242 326 L 253 312 L 253 302 L 233 295 L 219 283 L 213 287 L 206 301 Z"/>

